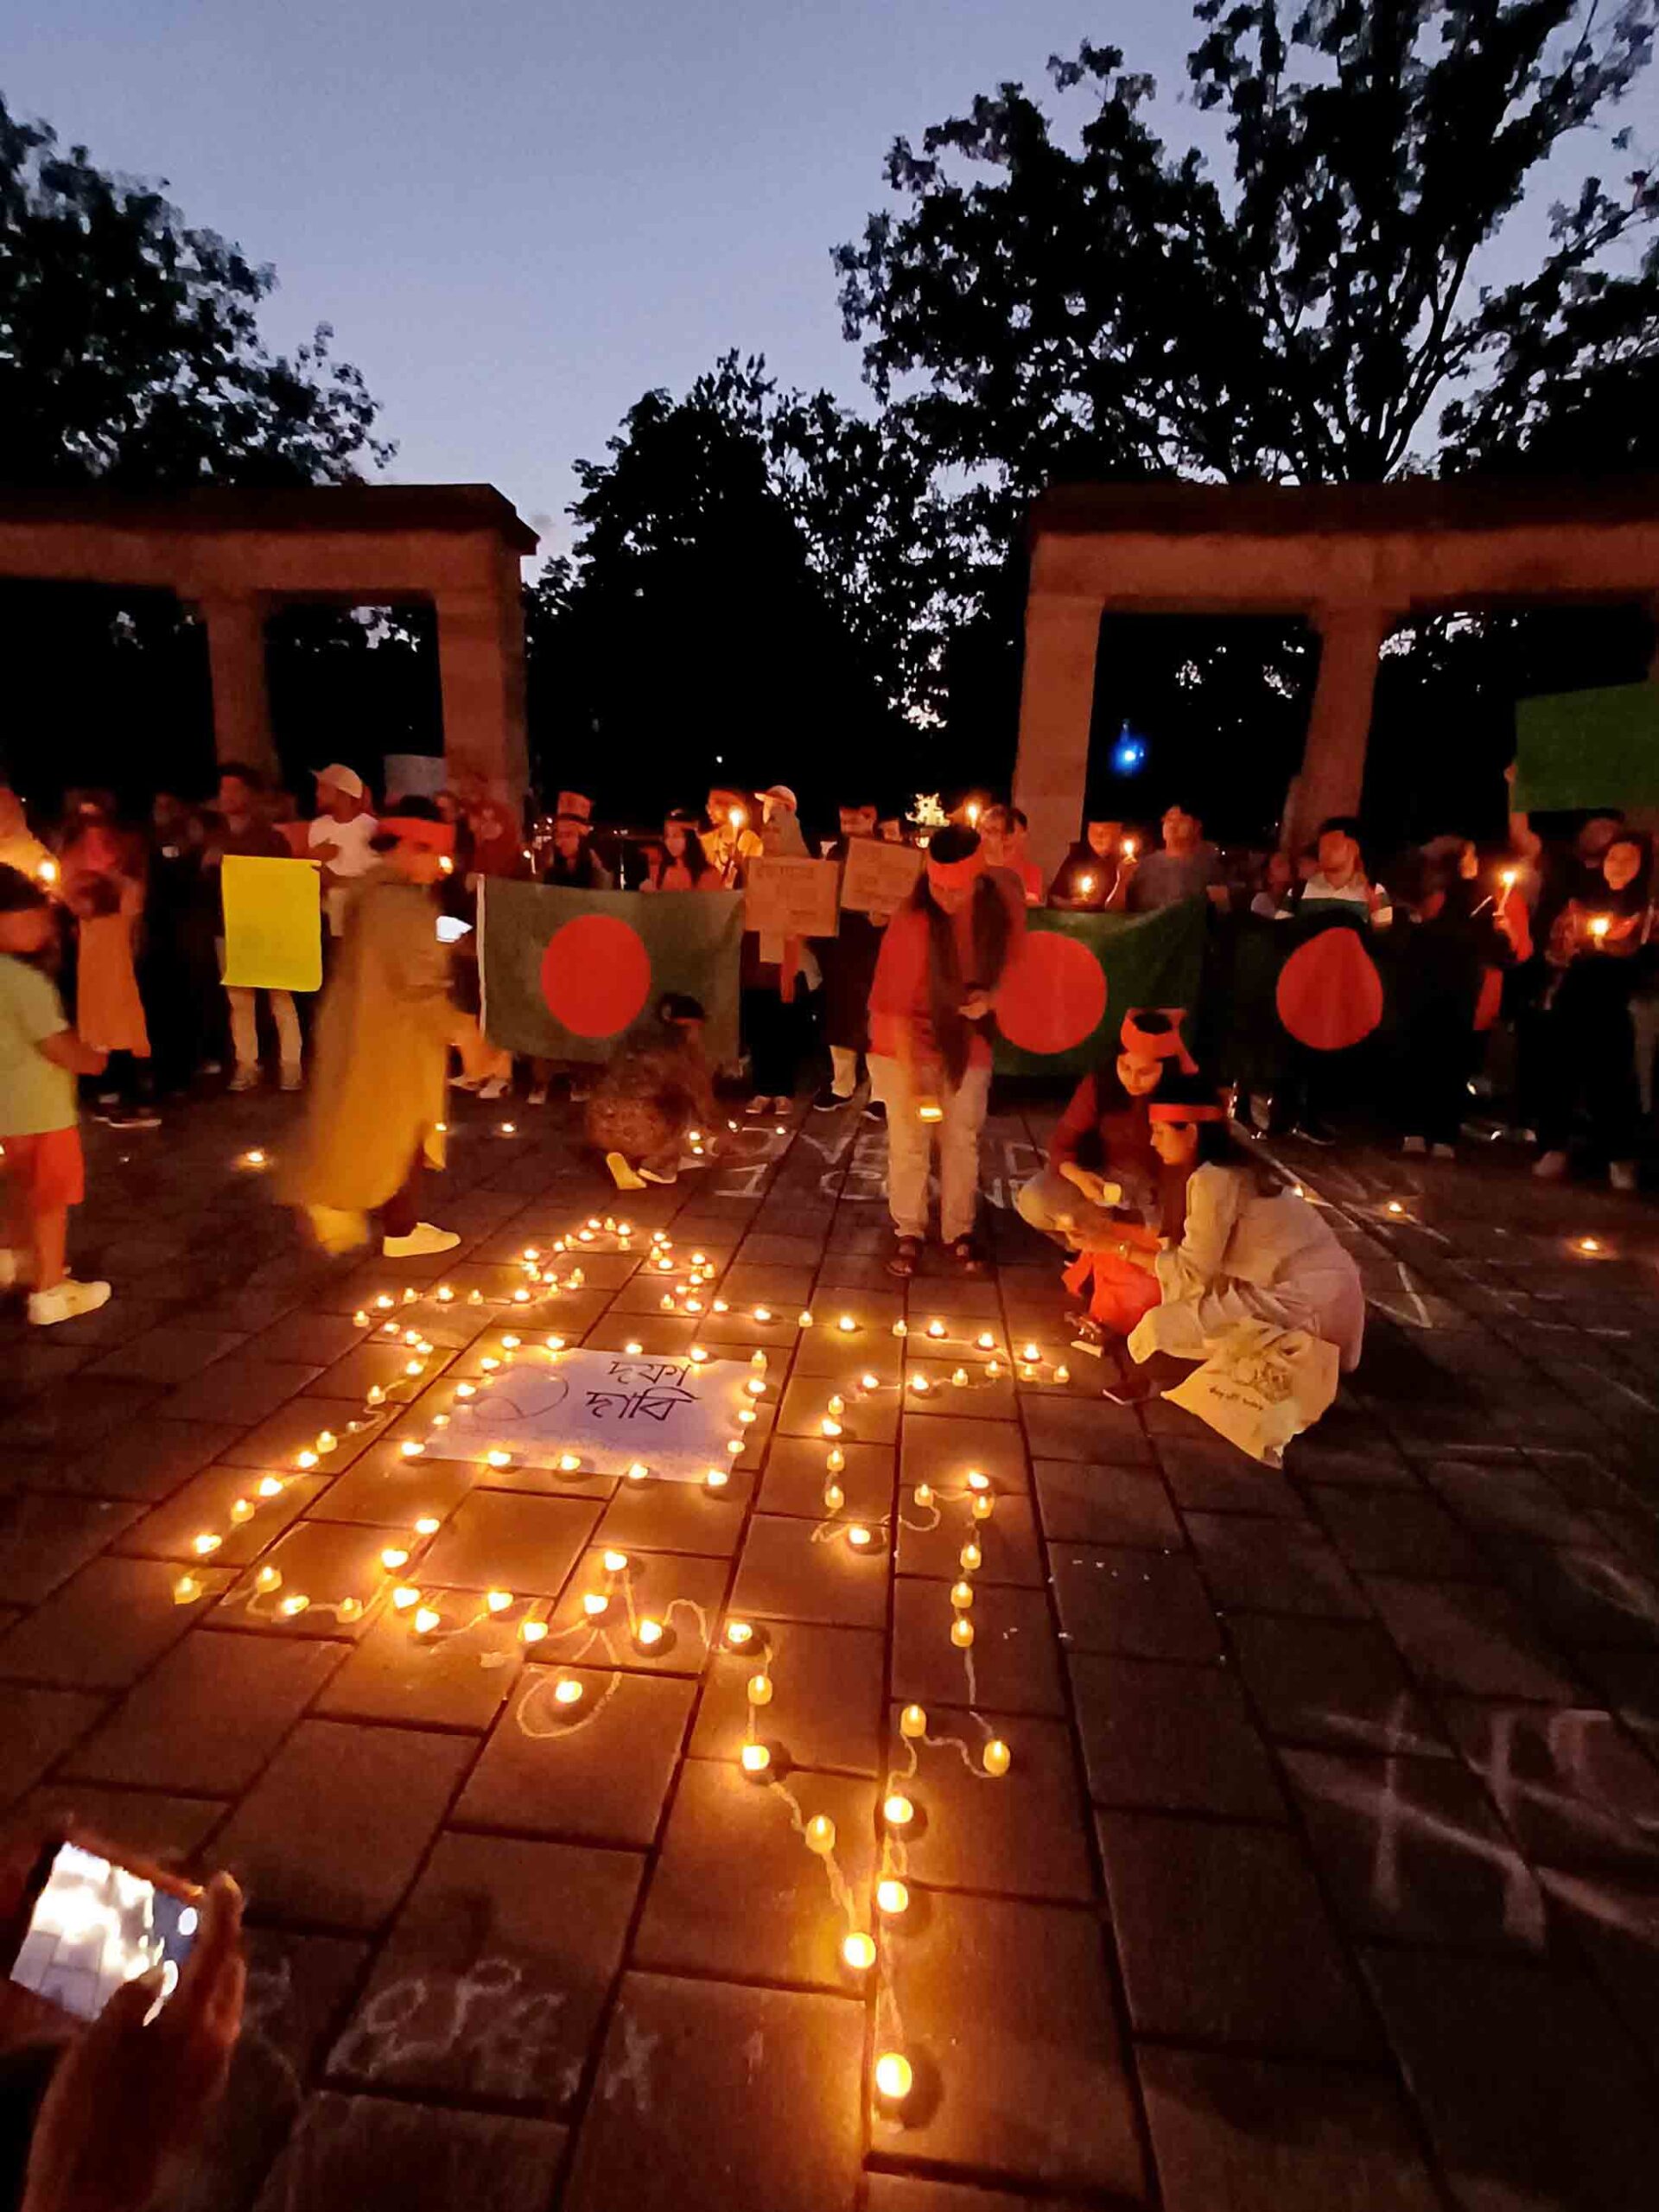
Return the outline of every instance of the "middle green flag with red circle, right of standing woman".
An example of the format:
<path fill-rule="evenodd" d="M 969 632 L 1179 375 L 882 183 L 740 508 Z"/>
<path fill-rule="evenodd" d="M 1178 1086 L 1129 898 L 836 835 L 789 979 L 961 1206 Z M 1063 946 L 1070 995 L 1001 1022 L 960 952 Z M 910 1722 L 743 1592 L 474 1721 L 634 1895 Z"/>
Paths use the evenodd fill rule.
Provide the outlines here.
<path fill-rule="evenodd" d="M 1130 1006 L 1194 1009 L 1206 914 L 1203 898 L 1157 914 L 1026 914 L 1024 945 L 998 993 L 998 1068 L 1082 1075 Z"/>

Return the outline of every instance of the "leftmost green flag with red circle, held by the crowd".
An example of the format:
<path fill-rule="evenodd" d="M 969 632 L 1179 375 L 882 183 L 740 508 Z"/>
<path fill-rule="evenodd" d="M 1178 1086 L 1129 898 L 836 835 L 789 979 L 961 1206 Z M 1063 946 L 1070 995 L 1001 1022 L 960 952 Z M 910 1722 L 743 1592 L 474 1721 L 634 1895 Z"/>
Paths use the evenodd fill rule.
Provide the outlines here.
<path fill-rule="evenodd" d="M 540 1060 L 608 1060 L 664 991 L 708 1013 L 710 1066 L 737 1060 L 741 891 L 564 891 L 487 876 L 478 898 L 484 1035 Z"/>

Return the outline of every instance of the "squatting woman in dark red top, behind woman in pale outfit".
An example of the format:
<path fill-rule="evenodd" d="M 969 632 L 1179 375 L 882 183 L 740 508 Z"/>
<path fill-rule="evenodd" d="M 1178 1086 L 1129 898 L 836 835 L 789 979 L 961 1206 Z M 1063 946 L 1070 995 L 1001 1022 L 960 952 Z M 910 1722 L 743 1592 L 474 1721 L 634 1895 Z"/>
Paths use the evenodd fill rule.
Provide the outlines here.
<path fill-rule="evenodd" d="M 1066 1287 L 1086 1298 L 1084 1334 L 1128 1336 L 1157 1305 L 1144 1267 L 1119 1259 L 1126 1239 L 1157 1250 L 1170 1199 L 1170 1172 L 1152 1150 L 1148 1104 L 1175 1064 L 1192 1071 L 1181 1042 L 1181 1006 L 1141 1006 L 1124 1015 L 1115 1051 L 1073 1091 L 1048 1139 L 1048 1166 L 1020 1186 L 1020 1219 L 1079 1254 Z"/>

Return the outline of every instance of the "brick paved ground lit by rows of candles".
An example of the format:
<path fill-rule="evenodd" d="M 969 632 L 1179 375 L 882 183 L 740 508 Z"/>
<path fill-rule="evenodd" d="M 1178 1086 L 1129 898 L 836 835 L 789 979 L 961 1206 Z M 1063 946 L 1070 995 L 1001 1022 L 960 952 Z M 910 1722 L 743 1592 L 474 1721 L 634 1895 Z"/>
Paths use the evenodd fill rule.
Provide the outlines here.
<path fill-rule="evenodd" d="M 562 1113 L 520 1106 L 504 1137 L 462 1106 L 440 1212 L 465 1248 L 319 1263 L 237 1166 L 281 1148 L 290 1104 L 97 1135 L 80 1263 L 117 1298 L 0 1340 L 0 1798 L 248 1889 L 250 2031 L 190 2208 L 1655 2203 L 1650 1214 L 1493 1159 L 1307 1157 L 1374 1329 L 1358 1387 L 1272 1475 L 1164 1405 L 1091 1396 L 1084 1358 L 1064 1387 L 984 1383 L 958 1349 L 982 1329 L 1064 1356 L 1055 1267 L 1006 1210 L 995 1279 L 925 1274 L 898 1343 L 880 1139 L 814 1115 L 630 1208 L 710 1254 L 728 1314 L 664 1318 L 615 1254 L 560 1298 L 557 1325 L 604 1347 L 765 1345 L 776 1387 L 708 1498 L 440 1449 L 411 1471 L 380 1416 L 347 1429 L 378 1385 L 420 1394 L 425 1433 L 502 1356 L 515 1316 L 491 1301 L 524 1285 L 524 1245 L 617 1201 Z M 1042 1117 L 989 1135 L 1006 1201 Z M 352 1316 L 438 1281 L 456 1301 L 398 1305 L 436 1347 L 409 1380 Z M 856 1338 L 825 1327 L 841 1312 Z M 867 1367 L 896 1383 L 936 1314 L 940 1389 L 849 1409 L 843 1520 L 874 1546 L 814 1542 L 827 1394 Z M 323 1429 L 336 1449 L 299 1473 Z M 947 1635 L 969 1467 L 995 1484 L 984 1725 Z M 232 1524 L 263 1473 L 288 1489 Z M 228 1531 L 208 1562 L 204 1526 Z M 416 1546 L 445 1621 L 491 1586 L 513 1610 L 418 1641 L 387 1604 L 389 1542 Z M 526 1606 L 568 1621 L 595 1544 L 717 1644 L 732 1613 L 761 1624 L 787 1801 L 737 1765 L 754 1659 L 710 1657 L 692 1610 L 661 1652 L 613 1639 L 615 1670 L 515 1637 Z M 274 1613 L 263 1562 L 316 1606 Z M 175 1604 L 186 1571 L 201 1597 Z M 564 1672 L 584 1728 L 549 1699 Z M 834 1820 L 869 1927 L 907 1701 L 967 1752 L 918 1747 L 909 1911 L 858 1973 L 792 1803 Z M 1013 1747 L 995 1781 L 973 1772 L 989 1730 Z M 902 2121 L 867 2097 L 894 2044 Z"/>

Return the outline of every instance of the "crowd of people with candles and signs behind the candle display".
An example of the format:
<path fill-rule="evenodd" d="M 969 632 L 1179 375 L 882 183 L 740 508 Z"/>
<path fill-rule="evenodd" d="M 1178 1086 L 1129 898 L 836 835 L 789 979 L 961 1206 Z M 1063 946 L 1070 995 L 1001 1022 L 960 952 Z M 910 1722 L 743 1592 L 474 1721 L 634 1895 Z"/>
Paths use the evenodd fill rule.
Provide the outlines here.
<path fill-rule="evenodd" d="M 268 1079 L 299 1091 L 307 1057 L 316 1095 L 290 1188 L 334 1248 L 367 1234 L 369 1214 L 380 1214 L 389 1252 L 440 1248 L 431 1239 L 442 1232 L 418 1219 L 416 1190 L 422 1159 L 436 1152 L 429 1126 L 442 1119 L 447 1079 L 484 1097 L 522 1082 L 540 1104 L 568 1075 L 593 1144 L 617 1181 L 635 1188 L 695 1164 L 677 1126 L 714 1121 L 712 1084 L 726 1077 L 743 1082 L 752 1117 L 781 1115 L 812 1084 L 814 1108 L 858 1104 L 872 1121 L 887 1121 L 896 1274 L 914 1270 L 927 1234 L 938 1148 L 940 1234 L 971 1270 L 980 1265 L 978 1135 L 995 1006 L 1026 916 L 1042 905 L 1144 916 L 1206 900 L 1212 936 L 1234 940 L 1254 929 L 1283 931 L 1287 942 L 1347 922 L 1374 947 L 1387 945 L 1389 1042 L 1358 1055 L 1358 1095 L 1374 1115 L 1394 1117 L 1407 1152 L 1453 1155 L 1478 1115 L 1484 1135 L 1531 1137 L 1533 1172 L 1544 1179 L 1568 1172 L 1582 1135 L 1615 1188 L 1637 1181 L 1659 1042 L 1659 905 L 1650 845 L 1615 814 L 1590 816 L 1566 841 L 1542 838 L 1524 814 L 1511 814 L 1498 849 L 1433 838 L 1391 856 L 1387 889 L 1349 818 L 1327 821 L 1301 852 L 1225 856 L 1181 805 L 1164 812 L 1155 836 L 1091 818 L 1044 880 L 1024 814 L 973 794 L 949 812 L 918 807 L 920 818 L 905 818 L 872 794 L 847 792 L 836 834 L 810 838 L 783 783 L 759 794 L 714 787 L 701 812 L 670 810 L 648 832 L 595 825 L 591 799 L 566 790 L 526 832 L 509 807 L 465 783 L 376 810 L 365 779 L 343 763 L 312 781 L 314 805 L 303 812 L 254 768 L 223 763 L 208 805 L 161 792 L 148 818 L 135 821 L 106 792 L 71 792 L 51 825 L 31 823 L 15 794 L 0 790 L 0 1137 L 11 1203 L 0 1270 L 29 1283 L 35 1321 L 69 1318 L 106 1294 L 75 1283 L 64 1265 L 64 1219 L 82 1177 L 77 1099 L 117 1126 L 157 1126 L 168 1097 L 215 1079 L 230 1091 Z M 515 1064 L 480 1035 L 465 922 L 487 876 L 599 894 L 737 891 L 761 856 L 845 867 L 856 838 L 927 847 L 914 894 L 891 916 L 843 909 L 830 938 L 781 942 L 745 931 L 734 1066 L 703 1064 L 695 1002 L 664 1011 L 661 1035 L 633 1040 L 604 1075 Z M 230 856 L 316 867 L 330 987 L 314 1013 L 290 991 L 221 982 L 219 880 Z M 427 927 L 434 900 L 449 907 L 458 945 L 438 945 Z M 394 975 L 405 993 L 396 1004 L 396 993 L 387 998 Z M 1115 1150 L 1115 1119 L 1144 1115 L 1146 1071 L 1166 1075 L 1172 1051 L 1157 1022 L 1157 1013 L 1144 1018 L 1135 1048 L 1113 1040 L 1091 1077 L 1093 1104 L 1084 1110 L 1079 1093 L 1062 1119 L 1048 1175 L 1022 1199 L 1040 1228 L 1055 1232 L 1064 1221 L 1060 1234 L 1075 1243 L 1088 1208 L 1099 1210 L 1099 1192 L 1079 1177 L 1102 1181 L 1104 1170 L 1084 1157 L 1088 1146 L 1066 1146 L 1079 1115 L 1093 1115 L 1091 1144 L 1104 1152 Z M 1150 1035 L 1164 1044 L 1146 1048 Z M 409 1126 L 392 1130 L 383 1088 L 361 1071 L 405 1046 L 414 1104 Z M 668 1082 L 664 1055 L 677 1071 L 672 1110 L 653 1102 L 653 1084 Z M 1206 1057 L 1248 1135 L 1327 1144 L 1334 1104 L 1356 1088 L 1354 1053 L 1296 1035 L 1279 1035 L 1270 1055 L 1206 1046 Z M 648 1135 L 635 1141 L 628 1128 Z M 1130 1197 L 1110 1210 L 1139 1208 L 1139 1232 L 1157 1245 L 1168 1237 L 1168 1208 L 1152 1190 L 1146 1128 L 1135 1144 Z M 712 1141 L 695 1157 L 710 1152 Z M 376 1175 L 343 1175 L 347 1157 L 376 1157 Z M 1139 1276 L 1146 1250 L 1124 1259 Z M 1137 1285 L 1121 1270 L 1099 1265 L 1093 1281 L 1102 1310 L 1135 1305 Z"/>

